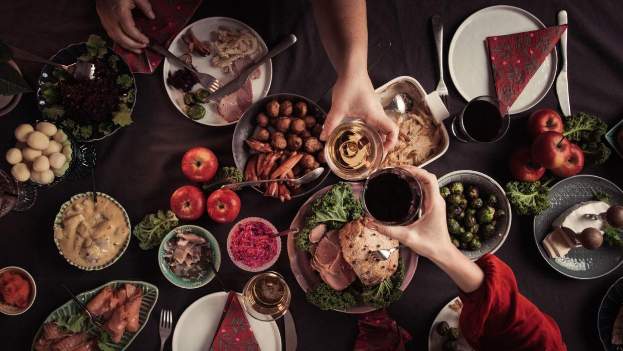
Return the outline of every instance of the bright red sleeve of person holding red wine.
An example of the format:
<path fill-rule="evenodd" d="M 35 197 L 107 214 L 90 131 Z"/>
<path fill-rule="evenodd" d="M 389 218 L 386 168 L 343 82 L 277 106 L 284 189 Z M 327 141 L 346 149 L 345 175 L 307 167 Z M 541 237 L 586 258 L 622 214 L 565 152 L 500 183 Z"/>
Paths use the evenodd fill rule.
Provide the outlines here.
<path fill-rule="evenodd" d="M 558 324 L 517 291 L 515 274 L 492 254 L 476 264 L 485 282 L 463 302 L 460 331 L 475 350 L 566 350 Z"/>

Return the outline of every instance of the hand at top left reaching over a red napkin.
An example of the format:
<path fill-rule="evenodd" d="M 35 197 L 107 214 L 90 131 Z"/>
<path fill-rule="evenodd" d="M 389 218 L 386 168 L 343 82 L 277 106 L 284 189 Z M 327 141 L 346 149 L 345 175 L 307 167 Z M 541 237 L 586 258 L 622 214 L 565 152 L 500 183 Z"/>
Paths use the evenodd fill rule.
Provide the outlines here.
<path fill-rule="evenodd" d="M 145 16 L 156 18 L 148 0 L 96 0 L 95 7 L 108 36 L 121 47 L 140 54 L 149 44 L 150 39 L 136 28 L 131 12 L 138 7 Z"/>

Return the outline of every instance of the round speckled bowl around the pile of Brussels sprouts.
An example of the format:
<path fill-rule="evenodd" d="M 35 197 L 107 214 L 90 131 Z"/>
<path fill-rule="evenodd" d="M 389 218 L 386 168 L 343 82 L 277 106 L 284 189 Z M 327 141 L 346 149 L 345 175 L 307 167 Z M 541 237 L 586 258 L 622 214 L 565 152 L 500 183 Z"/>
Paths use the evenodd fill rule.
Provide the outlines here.
<path fill-rule="evenodd" d="M 497 221 L 495 234 L 493 234 L 491 238 L 480 241 L 480 243 L 482 243 L 480 249 L 475 251 L 461 250 L 467 258 L 472 260 L 478 259 L 478 257 L 484 254 L 492 254 L 502 246 L 506 240 L 506 236 L 508 236 L 508 231 L 510 231 L 511 208 L 504 189 L 490 176 L 470 170 L 454 171 L 440 177 L 439 188 L 447 186 L 453 181 L 460 181 L 464 185 L 472 184 L 478 186 L 481 194 L 495 195 L 498 200 L 495 208 L 503 208 L 504 211 L 506 211 L 505 218 Z"/>

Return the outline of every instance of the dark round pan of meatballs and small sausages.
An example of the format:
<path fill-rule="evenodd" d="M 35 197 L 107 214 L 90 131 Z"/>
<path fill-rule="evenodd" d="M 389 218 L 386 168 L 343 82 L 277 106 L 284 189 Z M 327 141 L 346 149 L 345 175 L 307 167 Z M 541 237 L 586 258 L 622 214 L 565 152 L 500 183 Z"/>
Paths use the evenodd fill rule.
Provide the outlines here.
<path fill-rule="evenodd" d="M 232 139 L 234 162 L 245 181 L 298 178 L 323 166 L 325 171 L 312 183 L 280 181 L 253 187 L 281 201 L 314 190 L 330 172 L 320 141 L 325 118 L 315 102 L 295 94 L 273 94 L 251 105 Z"/>

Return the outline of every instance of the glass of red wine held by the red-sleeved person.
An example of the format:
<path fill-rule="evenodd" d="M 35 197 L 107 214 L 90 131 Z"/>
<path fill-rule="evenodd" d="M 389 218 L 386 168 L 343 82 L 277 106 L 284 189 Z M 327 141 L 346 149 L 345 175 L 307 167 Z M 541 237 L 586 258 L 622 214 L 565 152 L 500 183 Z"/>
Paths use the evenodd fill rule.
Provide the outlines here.
<path fill-rule="evenodd" d="M 404 226 L 419 217 L 422 187 L 404 168 L 381 168 L 368 177 L 359 200 L 374 221 L 386 226 Z"/>

